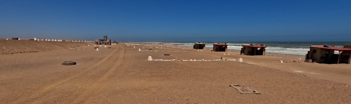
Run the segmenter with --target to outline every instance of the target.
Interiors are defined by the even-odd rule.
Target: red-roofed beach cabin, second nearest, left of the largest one
[[[261,45],[243,45],[243,48],[241,48],[240,55],[251,55],[251,56],[256,56],[256,55],[266,55],[266,46],[264,44]]]

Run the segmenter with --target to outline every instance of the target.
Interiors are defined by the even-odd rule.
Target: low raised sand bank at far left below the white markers
[[[93,45],[93,42],[0,40],[0,55],[40,52],[45,50],[74,48]]]

